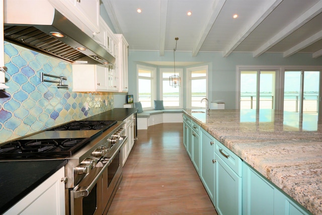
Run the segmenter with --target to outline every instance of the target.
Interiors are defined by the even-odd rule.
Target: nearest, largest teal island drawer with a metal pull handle
[[[241,159],[218,140],[215,140],[215,143],[216,156],[220,157],[238,176],[241,176]]]

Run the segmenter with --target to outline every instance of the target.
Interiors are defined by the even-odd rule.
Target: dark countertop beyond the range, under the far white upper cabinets
[[[99,113],[97,115],[88,117],[83,120],[117,120],[123,121],[132,113],[135,113],[137,108],[114,108],[112,110],[105,111],[103,113]]]

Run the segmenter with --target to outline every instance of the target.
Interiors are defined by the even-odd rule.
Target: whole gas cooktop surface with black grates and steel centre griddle
[[[0,158],[71,156],[116,123],[115,120],[68,122],[0,145]]]

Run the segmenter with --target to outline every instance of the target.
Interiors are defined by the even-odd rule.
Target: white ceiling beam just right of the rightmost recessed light
[[[239,35],[237,35],[236,38],[229,44],[229,46],[225,49],[223,52],[223,57],[228,57],[233,50],[241,43],[243,42],[262,22],[263,20],[272,13],[272,11],[282,2],[283,0],[276,0],[274,1],[266,11],[261,12],[253,17],[252,23],[249,23],[245,28],[243,28],[243,32],[241,32]]]

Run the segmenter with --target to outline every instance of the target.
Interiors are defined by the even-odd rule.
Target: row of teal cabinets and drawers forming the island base
[[[220,113],[221,116],[222,113],[225,114]],[[233,113],[230,111],[223,116],[229,118]],[[224,145],[224,135],[231,131],[217,127],[209,129],[207,122],[215,121],[207,117],[198,117],[197,114],[190,115],[184,111],[184,145],[218,214],[312,214],[244,161],[240,155],[237,156],[237,153],[228,149],[232,145]],[[218,117],[218,121],[221,119],[219,114],[213,114],[211,117]],[[221,124],[223,123],[216,123],[217,126]],[[238,123],[224,126],[226,129],[240,129]]]

